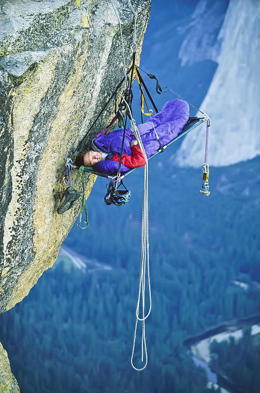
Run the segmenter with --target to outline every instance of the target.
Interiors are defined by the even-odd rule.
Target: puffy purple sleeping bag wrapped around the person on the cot
[[[154,128],[160,142],[164,146],[182,132],[188,120],[189,105],[186,101],[175,99],[166,102],[160,112],[156,113],[152,118],[149,118],[144,124],[138,125],[147,158],[151,157],[159,149],[159,142],[156,138]],[[123,154],[132,154],[130,142],[134,140],[135,137],[131,137],[130,132],[130,128],[126,129]],[[94,139],[94,143],[104,152],[120,155],[122,136],[123,130],[120,129],[110,134],[100,135],[98,138]],[[99,161],[94,165],[93,169],[99,172],[114,173],[118,171],[118,164],[117,161]],[[121,165],[121,172],[126,172],[128,170],[129,168]]]

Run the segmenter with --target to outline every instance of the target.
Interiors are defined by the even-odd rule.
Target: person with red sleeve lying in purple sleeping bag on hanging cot
[[[176,138],[189,120],[189,105],[179,99],[166,102],[162,110],[138,126],[147,159]],[[77,167],[90,165],[99,172],[117,172],[123,130],[103,134],[92,141],[92,150],[80,152],[75,160]],[[111,154],[112,153],[112,154]],[[130,129],[126,129],[122,152],[121,172],[145,165],[145,158]]]

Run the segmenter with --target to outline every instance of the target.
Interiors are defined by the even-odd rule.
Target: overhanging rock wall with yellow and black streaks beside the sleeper
[[[131,3],[138,11],[138,60],[150,0]],[[128,68],[133,14],[126,0],[114,0],[114,4],[122,22]],[[53,195],[65,189],[66,159],[88,132],[124,71],[118,19],[111,1],[0,0],[0,7],[3,312],[21,301],[54,263],[80,203],[57,214],[58,201]],[[114,105],[89,138],[107,124]],[[86,175],[86,181],[88,195],[95,176]]]

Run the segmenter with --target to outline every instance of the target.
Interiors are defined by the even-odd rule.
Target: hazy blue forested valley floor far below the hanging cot
[[[88,199],[90,226],[81,230],[75,225],[65,241],[83,261],[89,258],[86,269],[60,255],[27,298],[0,315],[0,341],[21,392],[213,391],[183,342],[222,322],[260,313],[259,167],[260,158],[212,168],[211,195],[205,197],[198,193],[201,171],[170,168],[160,157],[151,160],[152,311],[145,325],[148,365],[142,372],[130,365],[140,274],[142,169],[125,179],[132,196],[123,207],[103,203],[106,181],[98,179]],[[142,365],[140,337],[141,329],[137,366]],[[251,349],[256,345],[248,335],[244,339]],[[236,365],[239,345],[213,345],[221,367],[232,368],[227,370],[231,378],[232,373],[247,373],[248,364],[254,368],[259,359],[258,343],[256,353],[248,349]],[[258,393],[259,383],[254,380],[245,392]]]

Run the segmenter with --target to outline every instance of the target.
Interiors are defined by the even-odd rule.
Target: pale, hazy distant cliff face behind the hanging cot
[[[207,112],[212,121],[209,164],[221,167],[260,154],[257,116],[260,102],[260,3],[257,0],[230,0],[214,44],[211,37],[203,32],[203,26],[207,26],[210,33],[214,31],[210,11],[217,7],[217,1],[208,3],[213,8],[206,12],[207,1],[199,1],[194,13],[194,27],[179,56],[183,64],[199,61],[197,54],[202,59],[209,58],[218,63],[200,109]],[[201,23],[203,21],[204,24]],[[209,21],[211,28],[208,28]],[[215,21],[218,23],[218,18]],[[174,162],[181,167],[201,166],[204,146],[205,133],[194,130],[182,142]]]

